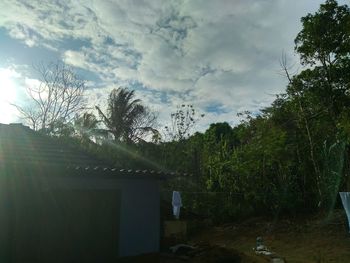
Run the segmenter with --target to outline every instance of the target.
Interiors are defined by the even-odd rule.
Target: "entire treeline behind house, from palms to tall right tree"
[[[255,116],[231,127],[214,123],[191,133],[199,116],[181,105],[165,128],[127,89],[112,91],[107,109],[55,119],[40,129],[75,141],[121,168],[190,173],[164,183],[183,192],[184,204],[215,220],[256,213],[298,213],[333,208],[348,190],[350,150],[350,11],[327,0],[301,19],[295,52],[302,70],[286,91]],[[37,121],[42,125],[43,121]]]

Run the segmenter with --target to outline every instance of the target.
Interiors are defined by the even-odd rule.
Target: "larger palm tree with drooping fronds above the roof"
[[[154,128],[156,115],[142,105],[140,99],[135,99],[134,90],[113,89],[108,97],[107,112],[98,106],[96,109],[106,131],[115,141],[132,143],[142,141],[150,134],[158,134]]]

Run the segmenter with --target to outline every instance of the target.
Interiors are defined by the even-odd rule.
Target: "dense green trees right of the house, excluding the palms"
[[[292,75],[282,56],[285,93],[259,116],[247,113],[234,128],[212,124],[165,151],[179,152],[180,167],[213,192],[216,217],[329,211],[348,190],[350,11],[328,0],[301,22],[295,51],[303,70]]]

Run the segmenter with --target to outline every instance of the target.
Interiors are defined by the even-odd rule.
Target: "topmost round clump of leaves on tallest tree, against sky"
[[[304,64],[330,65],[348,58],[350,51],[350,12],[335,0],[321,4],[315,14],[301,19],[303,29],[295,39],[295,50]]]

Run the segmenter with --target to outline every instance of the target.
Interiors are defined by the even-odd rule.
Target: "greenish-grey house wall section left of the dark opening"
[[[31,177],[22,180],[0,169],[1,262],[32,262],[38,259],[42,197]]]

